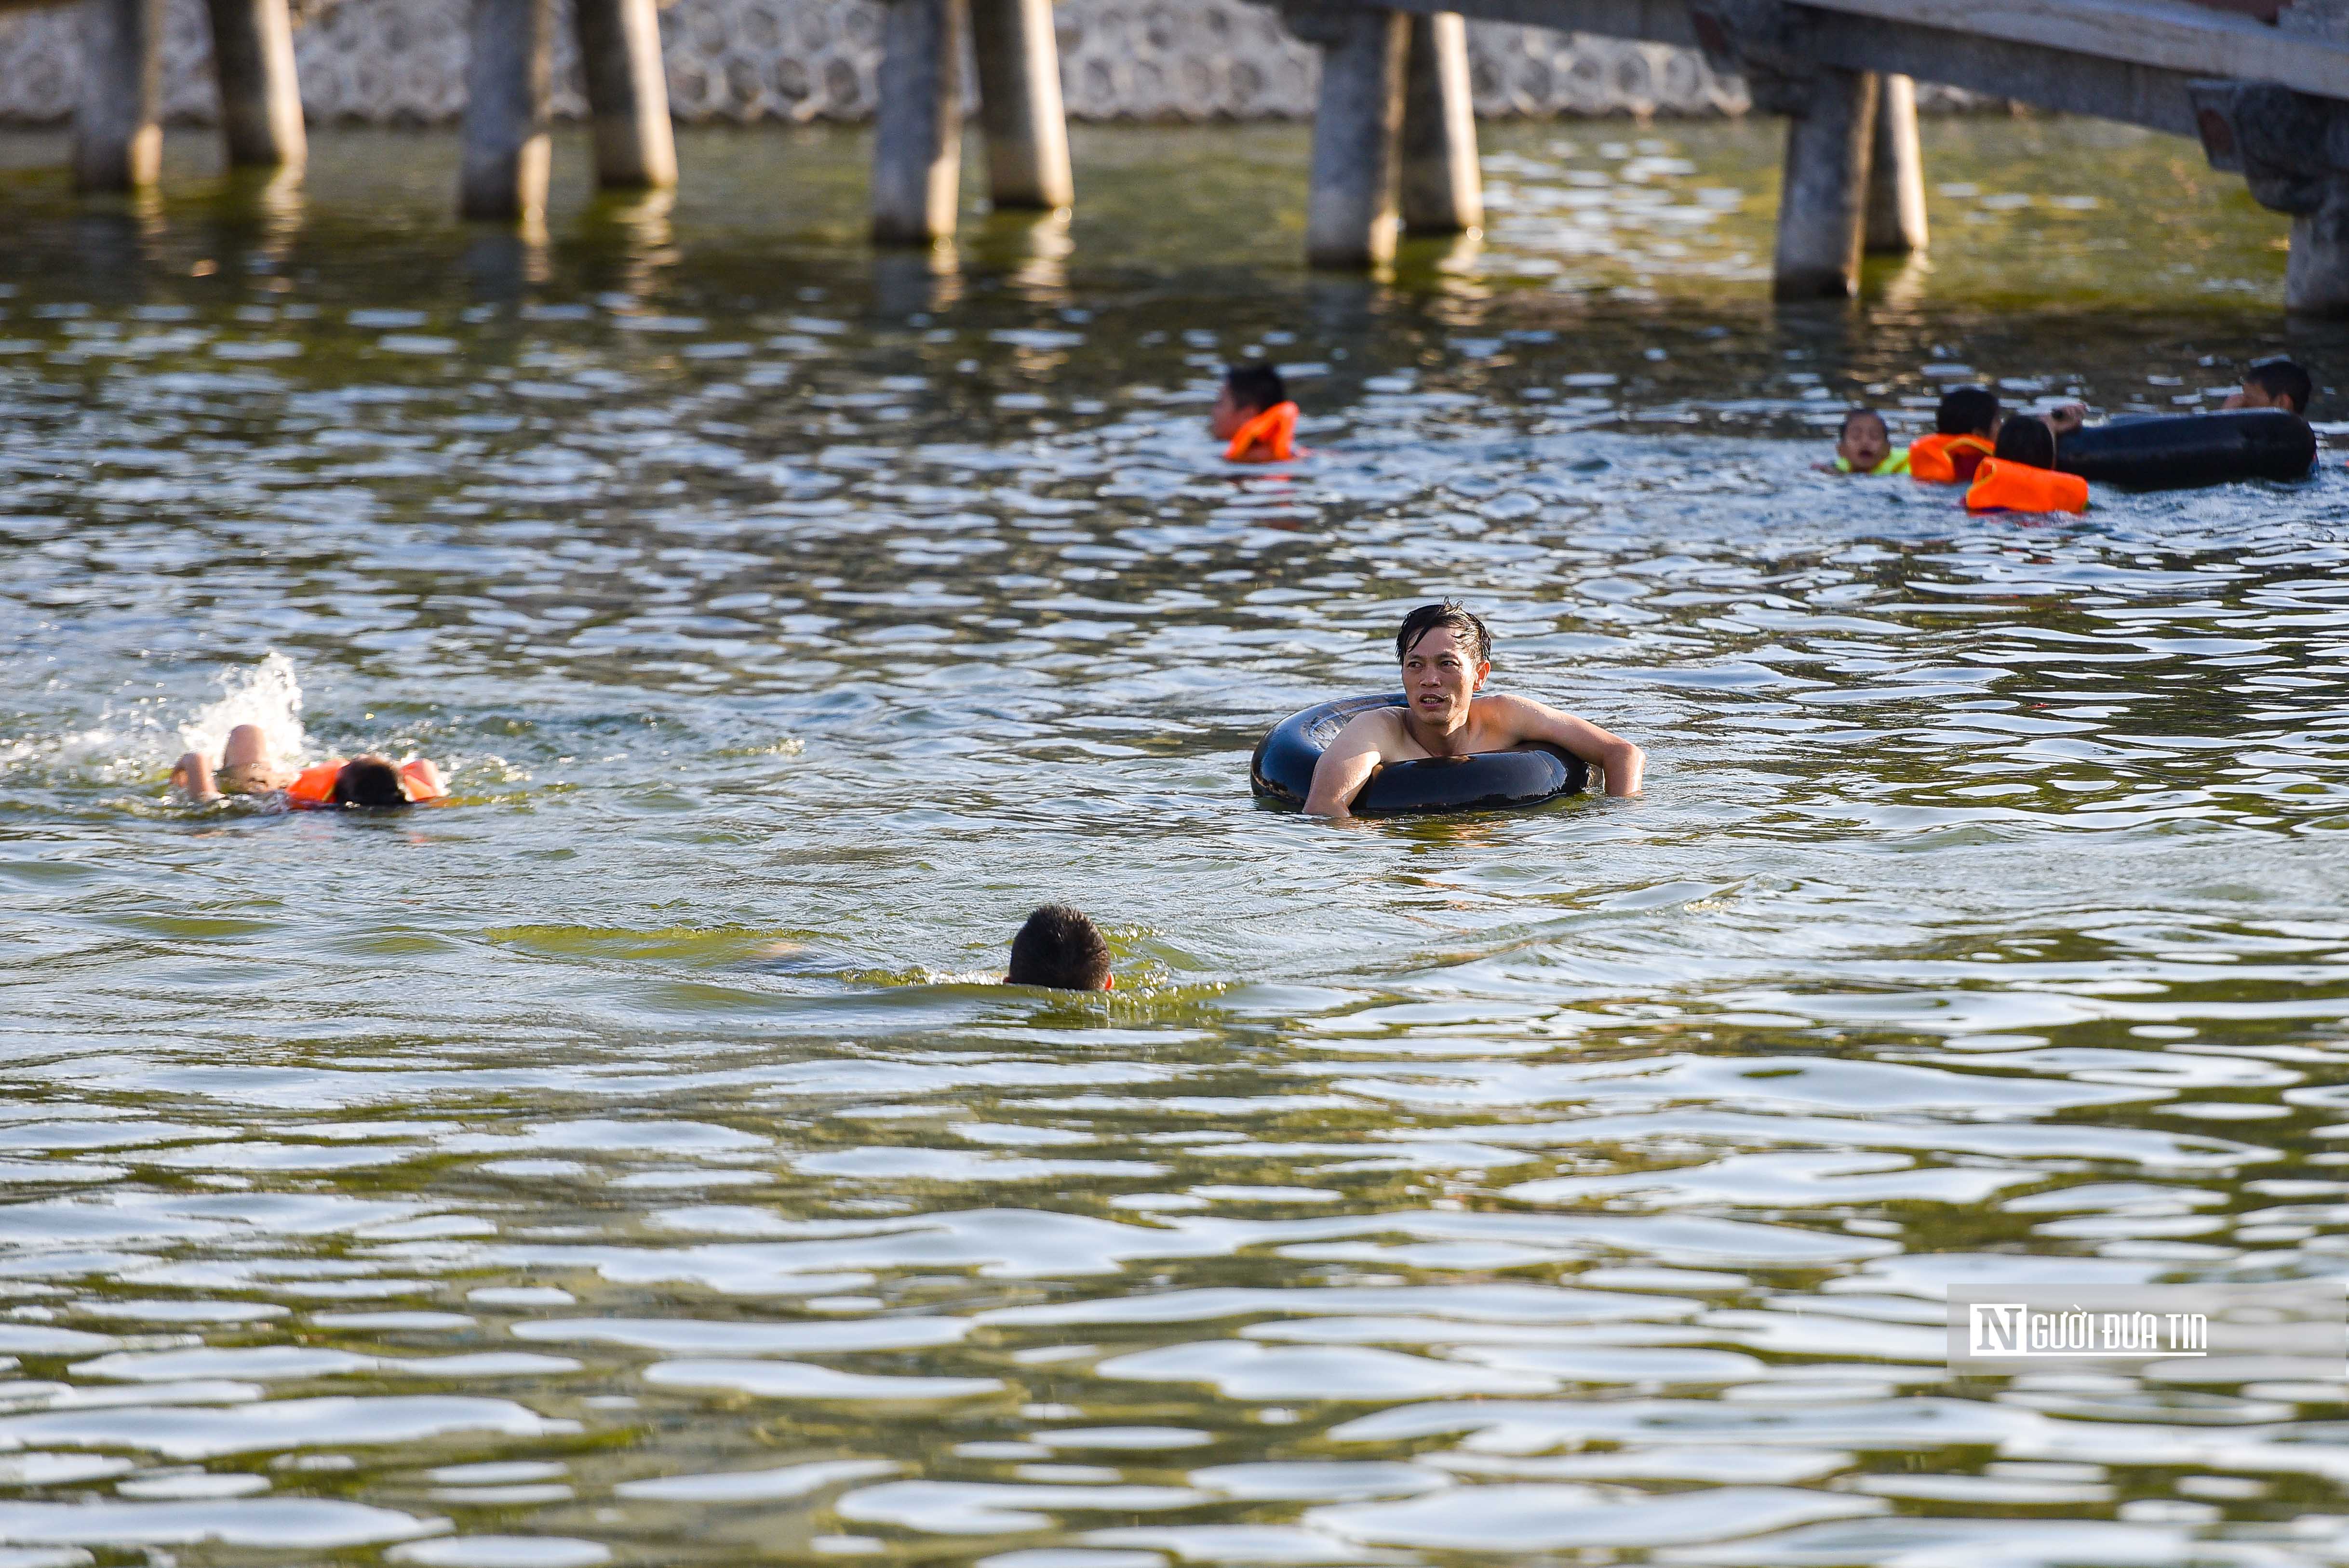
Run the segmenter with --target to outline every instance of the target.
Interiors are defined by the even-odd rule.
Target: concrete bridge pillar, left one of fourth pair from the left
[[[1402,77],[1412,19],[1372,7],[1294,7],[1290,31],[1320,45],[1306,190],[1306,265],[1377,268],[1395,258]]]

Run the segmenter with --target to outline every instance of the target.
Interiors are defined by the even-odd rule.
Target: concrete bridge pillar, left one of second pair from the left
[[[472,0],[458,216],[536,223],[547,209],[547,0]]]

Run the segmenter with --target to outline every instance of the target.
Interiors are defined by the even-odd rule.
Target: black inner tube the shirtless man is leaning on
[[[1247,784],[1261,800],[1304,805],[1313,789],[1313,765],[1355,714],[1400,709],[1402,692],[1386,697],[1339,697],[1290,714],[1257,742],[1247,763]],[[1557,746],[1527,744],[1508,751],[1473,751],[1468,756],[1428,756],[1409,763],[1381,763],[1369,784],[1353,798],[1355,817],[1402,817],[1409,812],[1482,812],[1503,805],[1539,805],[1555,796],[1579,793],[1590,782],[1590,768]]]

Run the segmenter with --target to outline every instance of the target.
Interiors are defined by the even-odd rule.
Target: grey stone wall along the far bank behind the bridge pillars
[[[557,0],[561,2],[561,0]],[[310,0],[294,35],[315,122],[418,124],[465,108],[467,0]],[[571,19],[557,26],[557,113],[583,110]],[[1313,108],[1318,56],[1245,0],[1062,0],[1059,47],[1078,120],[1283,120]],[[662,12],[679,120],[862,120],[879,63],[879,0],[674,0]],[[1722,115],[1745,87],[1687,49],[1501,23],[1468,28],[1478,113]],[[73,115],[73,7],[0,16],[0,120]],[[169,115],[216,113],[202,0],[169,0]]]

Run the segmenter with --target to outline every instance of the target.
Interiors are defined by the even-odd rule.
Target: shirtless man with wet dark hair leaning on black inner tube
[[[1346,817],[1379,763],[1508,751],[1548,742],[1607,772],[1609,796],[1637,796],[1647,751],[1529,697],[1478,697],[1492,674],[1492,634],[1456,603],[1423,603],[1395,634],[1407,707],[1372,709],[1330,742],[1313,768],[1306,812]]]

